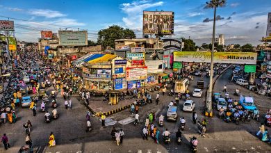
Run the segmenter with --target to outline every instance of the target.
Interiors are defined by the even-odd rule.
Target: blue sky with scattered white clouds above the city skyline
[[[191,38],[197,45],[210,43],[213,9],[207,0],[0,0],[0,19],[15,21],[18,40],[38,42],[40,31],[88,30],[97,32],[114,24],[132,29],[142,38],[143,10],[174,12],[173,38]],[[257,45],[265,36],[271,12],[270,0],[227,0],[217,8],[215,34],[225,35],[225,44]]]

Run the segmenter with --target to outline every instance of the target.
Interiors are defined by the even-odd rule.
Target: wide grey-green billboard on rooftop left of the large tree
[[[59,45],[85,46],[88,45],[88,31],[58,31]]]

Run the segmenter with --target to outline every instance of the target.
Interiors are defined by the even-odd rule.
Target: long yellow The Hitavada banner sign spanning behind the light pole
[[[252,52],[215,52],[214,63],[256,65],[257,53]],[[174,51],[175,62],[211,63],[210,51]]]

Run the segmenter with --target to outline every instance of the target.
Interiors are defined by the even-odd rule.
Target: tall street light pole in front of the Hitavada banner
[[[206,115],[213,116],[213,110],[212,110],[212,90],[213,90],[213,52],[215,49],[215,17],[216,17],[216,8],[218,6],[223,6],[225,3],[225,0],[211,0],[210,2],[206,2],[206,4],[214,8],[213,13],[213,38],[212,38],[212,51],[211,51],[211,72],[210,72],[210,83],[209,83],[209,89],[208,89],[208,95],[207,95],[207,102],[206,102]]]

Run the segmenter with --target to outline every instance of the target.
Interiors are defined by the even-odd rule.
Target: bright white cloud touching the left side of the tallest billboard
[[[142,0],[133,1],[131,3],[122,3],[120,9],[126,14],[122,17],[122,22],[129,29],[142,29],[142,13],[147,8],[163,6],[163,1]]]

